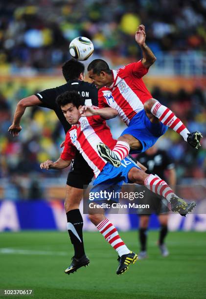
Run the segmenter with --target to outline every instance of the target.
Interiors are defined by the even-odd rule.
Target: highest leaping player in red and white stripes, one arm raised
[[[100,145],[100,155],[105,157],[106,151],[109,159],[114,158],[115,167],[120,165],[120,161],[128,155],[130,149],[143,152],[152,147],[168,127],[182,135],[195,149],[200,147],[202,137],[198,131],[190,133],[168,107],[153,99],[141,79],[156,61],[145,43],[144,25],[138,27],[135,39],[143,53],[142,60],[137,63],[111,70],[105,61],[96,59],[88,66],[89,77],[100,88],[99,107],[113,107],[128,126],[118,138],[113,151]]]

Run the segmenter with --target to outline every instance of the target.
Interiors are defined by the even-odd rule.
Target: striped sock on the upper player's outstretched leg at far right
[[[183,136],[185,141],[187,141],[187,134],[189,134],[188,129],[169,108],[161,105],[159,102],[156,102],[151,109],[151,113],[159,118],[162,124],[169,128],[172,128],[175,132]]]

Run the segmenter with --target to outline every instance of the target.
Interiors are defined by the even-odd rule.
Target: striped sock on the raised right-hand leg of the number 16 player
[[[171,197],[175,195],[174,191],[167,185],[167,183],[154,174],[148,175],[144,181],[144,185],[150,191],[166,198],[168,202],[170,202]]]

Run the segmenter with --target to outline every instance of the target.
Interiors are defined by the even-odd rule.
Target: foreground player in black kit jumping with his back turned
[[[84,64],[74,59],[67,61],[62,67],[62,72],[67,83],[55,88],[46,89],[35,95],[31,95],[22,99],[17,104],[13,123],[9,127],[8,131],[13,134],[13,136],[18,136],[19,132],[22,130],[20,121],[25,108],[31,106],[40,106],[54,110],[62,126],[64,127],[66,134],[71,126],[67,122],[62,110],[55,102],[57,96],[65,91],[75,90],[84,98],[85,105],[98,106],[98,91],[95,85],[83,81],[84,69]],[[68,174],[65,199],[68,232],[71,243],[74,247],[74,256],[72,257],[71,265],[65,270],[65,273],[67,274],[73,273],[78,268],[86,266],[90,262],[84,251],[82,234],[83,218],[79,211],[79,204],[83,197],[84,185],[89,185],[92,177],[92,169],[89,167],[79,151],[77,151],[73,165]]]

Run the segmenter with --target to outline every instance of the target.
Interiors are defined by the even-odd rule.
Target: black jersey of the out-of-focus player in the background
[[[165,179],[164,171],[174,168],[174,163],[164,150],[158,150],[154,155],[142,152],[138,155],[137,160],[162,179]]]

